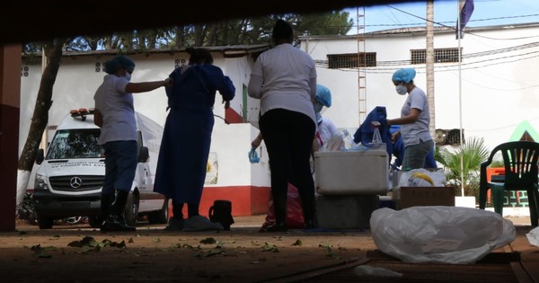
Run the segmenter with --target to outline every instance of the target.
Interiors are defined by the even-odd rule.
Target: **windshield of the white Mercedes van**
[[[57,130],[46,159],[102,158],[102,146],[97,144],[99,135],[99,128]]]

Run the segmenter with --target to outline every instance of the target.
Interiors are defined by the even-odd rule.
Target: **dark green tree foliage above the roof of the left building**
[[[349,13],[332,11],[309,14],[271,14],[258,18],[229,19],[151,30],[118,31],[102,35],[80,35],[68,41],[66,51],[116,49],[119,52],[151,49],[181,49],[190,46],[271,44],[271,31],[278,19],[294,27],[294,43],[303,35],[344,35],[353,26]],[[25,53],[39,52],[40,43],[24,45]]]

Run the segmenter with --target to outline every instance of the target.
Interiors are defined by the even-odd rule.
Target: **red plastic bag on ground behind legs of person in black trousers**
[[[305,221],[303,215],[303,208],[301,206],[301,198],[296,186],[288,183],[287,193],[287,219],[285,220],[288,229],[303,229],[305,228]],[[261,226],[261,231],[275,223],[275,208],[273,207],[273,198],[270,195],[270,202],[268,208],[268,216],[266,221]]]

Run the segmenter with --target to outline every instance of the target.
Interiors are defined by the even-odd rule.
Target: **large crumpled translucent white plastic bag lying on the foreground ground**
[[[379,208],[370,226],[381,252],[412,263],[474,263],[516,238],[511,221],[476,208]]]

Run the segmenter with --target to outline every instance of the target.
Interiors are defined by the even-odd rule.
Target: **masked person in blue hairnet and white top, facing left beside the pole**
[[[402,170],[423,168],[427,155],[434,146],[430,136],[429,102],[427,95],[413,83],[416,71],[402,68],[393,73],[392,81],[399,95],[406,95],[402,105],[401,118],[387,119],[388,126],[401,125],[401,129],[392,135],[392,142],[402,137],[405,152],[402,158]]]

